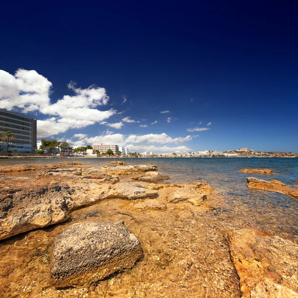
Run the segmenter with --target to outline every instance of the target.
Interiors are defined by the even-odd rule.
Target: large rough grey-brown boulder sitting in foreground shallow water
[[[52,283],[55,287],[90,284],[133,267],[142,254],[140,241],[123,222],[74,224],[54,240]]]

